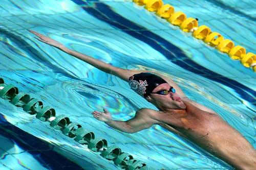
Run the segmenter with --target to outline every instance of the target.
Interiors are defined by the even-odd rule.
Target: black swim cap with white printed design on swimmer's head
[[[145,97],[145,94],[150,94],[157,86],[167,82],[150,72],[141,72],[131,76],[128,83],[131,89]]]

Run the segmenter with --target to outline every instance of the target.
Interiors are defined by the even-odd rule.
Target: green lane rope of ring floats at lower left
[[[31,98],[25,92],[19,92],[14,85],[7,85],[3,78],[0,78],[0,97],[9,100],[11,104],[22,107],[24,111],[31,115],[36,114],[36,118],[42,122],[50,122],[50,126],[60,130],[62,134],[73,138],[80,144],[85,144],[93,152],[99,152],[102,158],[113,161],[113,163],[129,170],[153,170],[144,162],[134,159],[132,155],[122,152],[116,145],[108,146],[108,141],[95,137],[94,133],[82,127],[82,125],[71,122],[70,118],[61,114],[56,116],[55,109],[38,100]]]

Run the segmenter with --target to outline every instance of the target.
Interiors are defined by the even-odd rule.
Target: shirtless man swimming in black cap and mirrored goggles
[[[189,100],[174,81],[153,71],[127,70],[112,66],[70,50],[60,42],[37,32],[30,32],[39,41],[129,82],[135,92],[159,109],[139,109],[132,119],[125,122],[113,120],[110,112],[103,109],[103,112],[92,113],[96,119],[126,133],[160,125],[188,138],[237,169],[256,169],[256,152],[252,145],[215,111]]]

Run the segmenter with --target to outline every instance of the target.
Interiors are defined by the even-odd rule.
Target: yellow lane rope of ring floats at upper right
[[[197,19],[187,18],[186,14],[181,11],[175,12],[172,5],[164,4],[162,0],[133,0],[133,2],[144,6],[150,12],[155,12],[156,15],[166,19],[172,25],[180,27],[182,31],[191,32],[195,38],[201,39],[222,53],[227,53],[233,60],[240,60],[242,65],[256,72],[255,54],[246,54],[246,49],[243,46],[235,46],[231,40],[224,39],[220,33],[211,32],[211,29],[205,25],[198,26]]]

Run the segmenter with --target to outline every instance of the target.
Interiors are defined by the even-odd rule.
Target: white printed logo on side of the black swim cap
[[[136,93],[144,97],[144,94],[146,93],[146,86],[148,86],[146,80],[145,81],[139,80],[138,82],[133,79],[134,79],[134,76],[132,76],[129,80],[129,85],[131,89],[133,89]]]

